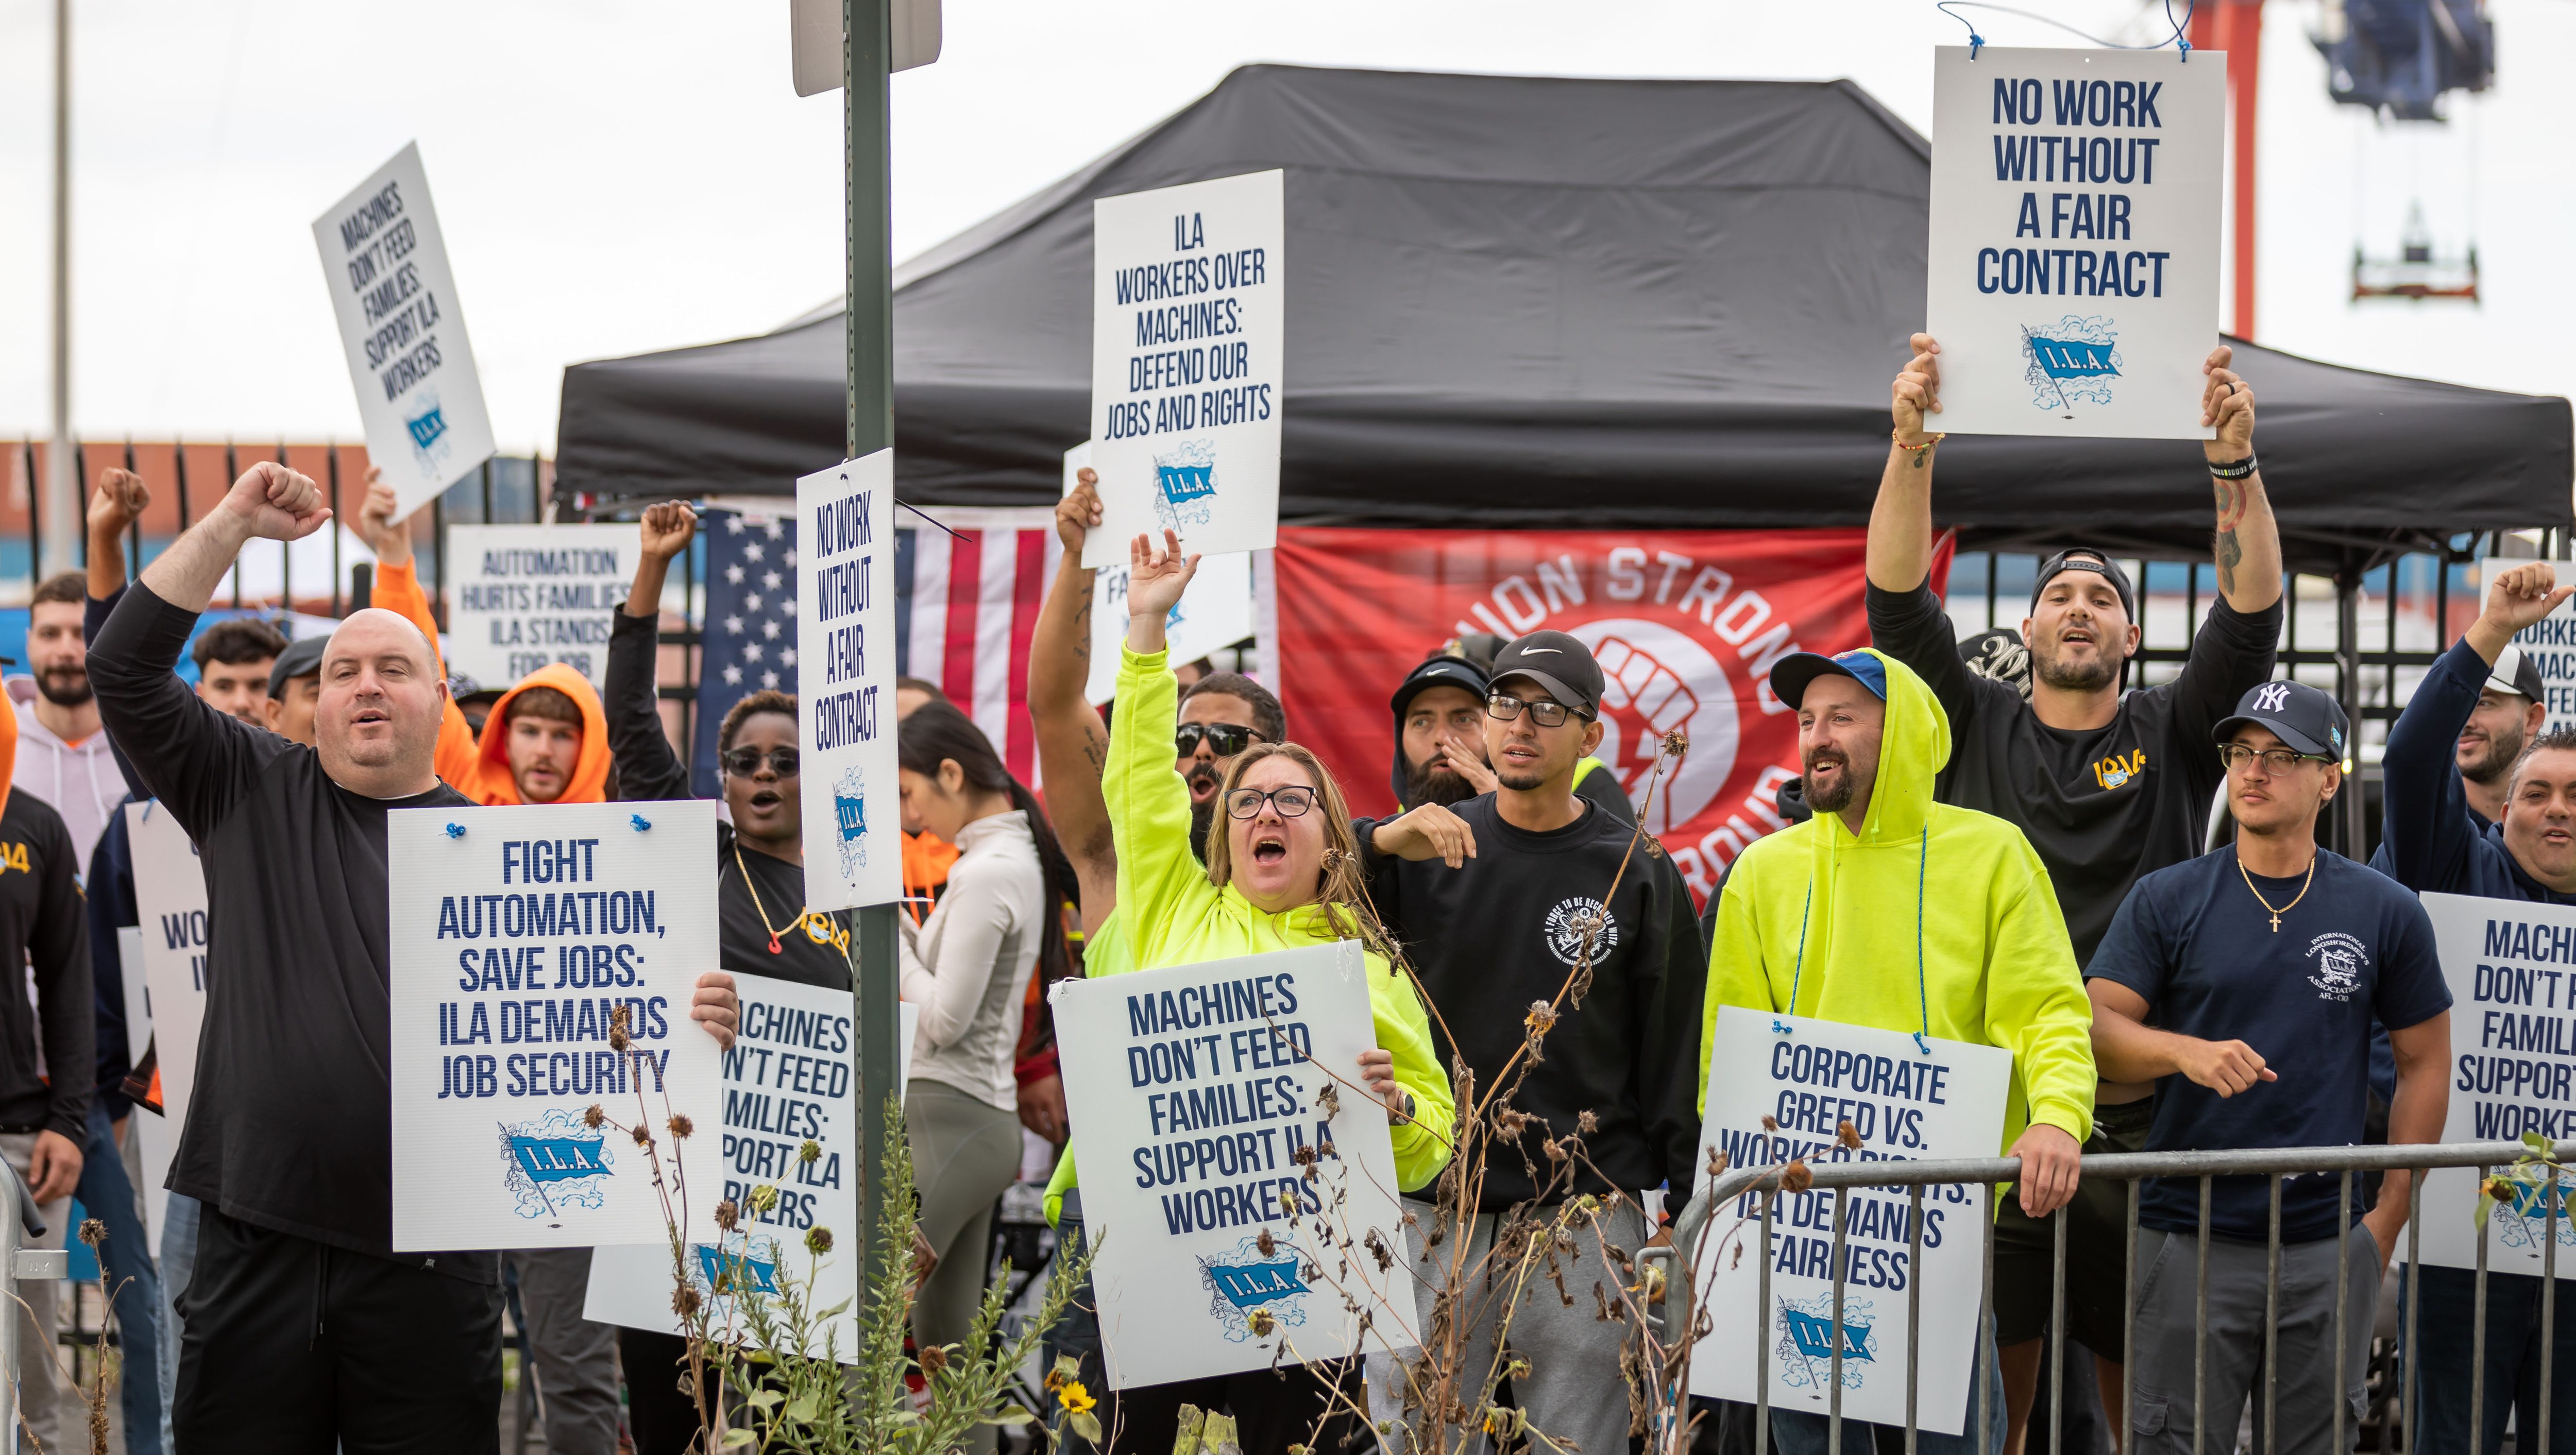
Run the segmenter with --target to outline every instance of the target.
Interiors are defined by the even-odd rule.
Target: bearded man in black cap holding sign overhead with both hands
[[[2223,780],[2210,729],[2272,677],[2280,530],[2254,466],[2254,391],[2228,368],[2231,358],[2228,348],[2210,350],[2200,394],[2202,425],[2215,430],[2200,451],[2218,510],[2210,551],[2218,600],[2182,675],[2125,695],[2123,675],[2141,636],[2138,592],[2102,551],[2058,551],[2040,564],[2022,621],[2027,700],[1960,662],[1958,631],[1929,585],[1940,343],[1914,335],[1914,361],[1891,389],[1896,435],[1870,510],[1870,644],[1919,672],[1940,698],[1953,742],[1940,801],[1994,814],[2030,837],[2066,912],[2076,966],[2092,961],[2141,876],[2200,858]],[[2138,1151],[2151,1094],[2154,1084],[2105,1082],[2089,1151]],[[2053,1246],[2050,1228],[2007,1203],[1994,1234],[1994,1331],[2014,1450],[2038,1388]],[[2066,1334],[2094,1352],[2105,1409],[2120,1409],[2125,1267],[2128,1197],[2105,1182],[2076,1195],[2066,1259]]]

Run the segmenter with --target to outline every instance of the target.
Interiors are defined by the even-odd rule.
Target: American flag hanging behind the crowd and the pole
[[[940,530],[896,515],[894,670],[938,682],[1002,762],[1036,783],[1028,639],[1064,546],[1051,510],[933,507]],[[796,520],[706,512],[706,628],[690,778],[714,796],[716,729],[744,693],[796,690]]]

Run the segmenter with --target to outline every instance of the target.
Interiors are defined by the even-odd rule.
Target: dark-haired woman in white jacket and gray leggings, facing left
[[[938,909],[917,930],[904,919],[902,948],[904,999],[922,1007],[904,1125],[922,1236],[940,1259],[912,1311],[912,1337],[927,1349],[966,1339],[984,1298],[992,1205],[1020,1172],[1012,1061],[1028,976],[1066,966],[1051,868],[1064,855],[1038,798],[966,713],[914,708],[899,752],[904,832],[958,847]]]

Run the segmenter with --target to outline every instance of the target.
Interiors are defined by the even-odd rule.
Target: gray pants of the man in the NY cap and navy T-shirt
[[[2233,1450],[2246,1401],[2262,1424],[2264,1244],[2210,1236],[2210,1306],[2195,1313],[2200,1282],[2197,1234],[2138,1228],[2138,1357],[2136,1452],[2190,1455],[2192,1450],[2192,1342],[2208,1331],[2205,1450]],[[2280,1445],[2262,1429],[2257,1450],[2277,1455],[2331,1455],[2334,1401],[2344,1401],[2344,1442],[2360,1432],[2362,1373],[2370,1326],[2380,1300],[2380,1252],[2370,1231],[2349,1234],[2344,1277],[2344,1349],[2334,1349],[2334,1239],[2280,1249]]]

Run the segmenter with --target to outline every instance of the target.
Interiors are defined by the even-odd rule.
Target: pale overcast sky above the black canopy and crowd
[[[417,139],[502,451],[551,448],[564,363],[770,330],[842,278],[840,98],[788,85],[788,0],[75,0],[75,427],[358,435],[312,219]],[[2138,0],[2022,0],[2123,41]],[[52,3],[0,0],[0,435],[49,415]],[[2576,5],[2491,0],[2496,88],[2447,129],[2336,108],[2313,0],[2272,0],[2262,343],[2568,394],[2576,167],[2553,95]],[[2081,44],[1968,10],[1994,44]],[[1929,0],[948,0],[894,80],[894,242],[917,252],[1244,62],[1852,77],[1929,131]],[[2550,57],[2558,57],[2555,62]],[[2352,306],[2411,201],[2478,245],[2486,306]],[[1891,358],[1891,373],[1901,361]]]

